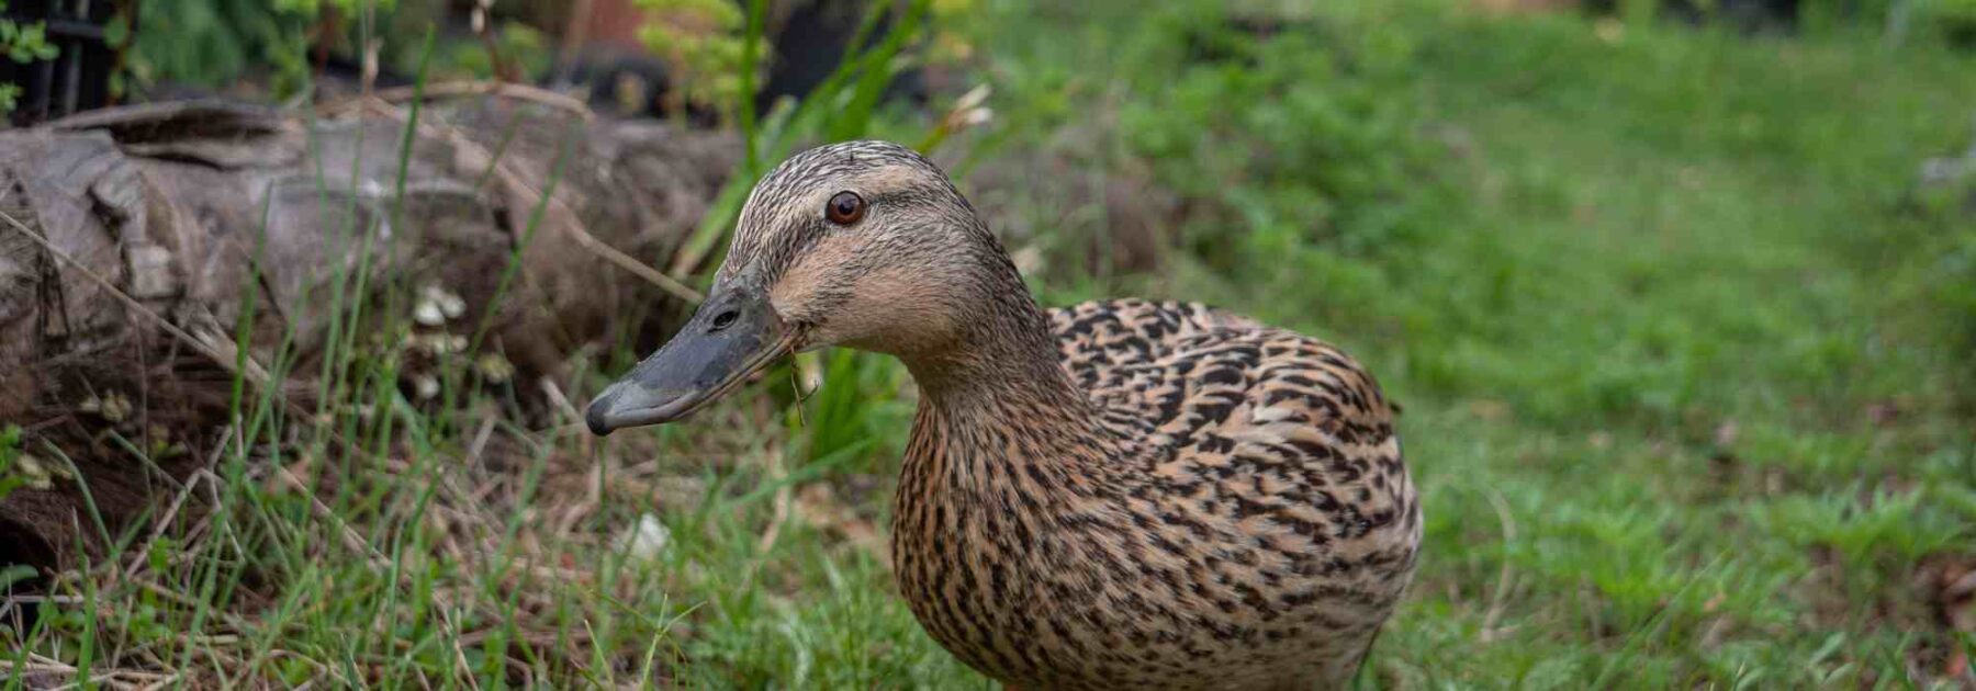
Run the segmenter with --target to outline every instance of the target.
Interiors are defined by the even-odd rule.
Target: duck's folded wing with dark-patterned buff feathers
[[[1340,569],[1365,596],[1411,571],[1421,517],[1393,411],[1350,355],[1197,304],[1087,302],[1053,320],[1166,511],[1267,535],[1298,557],[1290,573]]]

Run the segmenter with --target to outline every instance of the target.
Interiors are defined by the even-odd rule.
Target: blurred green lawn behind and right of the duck
[[[1976,559],[1970,312],[1940,300],[1976,290],[1976,221],[1913,195],[1976,136],[1976,61],[1419,8],[1308,34],[1243,69],[1031,49],[1132,55],[1107,77],[1148,87],[1089,85],[1126,146],[1235,207],[1195,270],[1061,298],[1207,296],[1407,405],[1429,545],[1377,681],[1942,683],[1972,634],[1917,582]]]

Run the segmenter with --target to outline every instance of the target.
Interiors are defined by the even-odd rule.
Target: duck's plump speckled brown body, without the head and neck
[[[899,586],[968,665],[1039,689],[1336,687],[1391,614],[1419,505],[1377,385],[1197,304],[1051,310],[1063,381],[929,389]]]

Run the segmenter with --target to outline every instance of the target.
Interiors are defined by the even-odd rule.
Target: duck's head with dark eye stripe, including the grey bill
[[[822,346],[939,353],[1010,290],[1028,300],[933,162],[891,142],[812,148],[755,186],[707,300],[585,417],[597,434],[678,421]]]

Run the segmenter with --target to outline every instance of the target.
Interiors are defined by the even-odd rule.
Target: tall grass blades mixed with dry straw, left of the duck
[[[737,67],[749,87],[763,55],[763,2],[751,2],[747,49]],[[688,243],[682,265],[690,272],[717,261],[709,255],[725,245],[739,201],[765,160],[786,156],[800,140],[869,128],[877,97],[905,65],[901,55],[927,2],[911,4],[885,36],[873,32],[879,12],[887,10],[873,8],[844,67],[812,97],[757,122],[753,99],[743,95],[749,154]],[[723,624],[755,630],[775,618],[816,614],[842,622],[850,614],[788,610],[784,598],[749,582],[822,578],[854,592],[879,569],[869,555],[824,571],[790,569],[786,561],[804,557],[777,553],[773,537],[816,531],[790,523],[794,488],[865,458],[867,444],[856,438],[810,434],[854,428],[840,424],[860,419],[850,397],[869,389],[832,387],[824,403],[812,403],[828,426],[804,426],[802,405],[790,397],[794,405],[786,411],[773,405],[719,413],[747,419],[743,428],[759,428],[757,434],[662,434],[658,446],[654,440],[599,444],[567,419],[553,428],[522,428],[498,415],[504,393],[476,379],[470,355],[441,363],[445,385],[437,401],[413,403],[401,393],[407,373],[397,347],[413,332],[407,316],[415,286],[379,284],[373,257],[395,257],[407,235],[383,239],[381,227],[405,223],[401,209],[429,57],[431,38],[405,109],[389,213],[360,213],[360,195],[318,172],[322,207],[342,195],[342,219],[350,225],[332,235],[344,243],[338,251],[356,261],[350,269],[332,263],[326,280],[330,320],[320,367],[312,371],[316,405],[298,409],[281,387],[237,375],[231,424],[209,466],[174,486],[156,513],[121,535],[91,515],[109,551],[53,575],[45,594],[10,600],[22,626],[0,628],[10,650],[8,689],[49,679],[115,687],[725,683],[735,679],[709,677],[711,669],[684,659],[733,655],[727,646],[759,650],[759,644],[709,630]],[[492,304],[470,326],[466,353],[486,346],[500,302],[518,278],[522,255],[571,156],[575,132],[569,134]],[[310,136],[310,144],[320,162],[320,140]],[[364,162],[352,166],[350,180],[358,180]],[[261,304],[251,286],[261,280],[265,233],[255,247],[233,344],[241,359],[233,365],[247,371],[251,351],[273,351],[269,375],[287,381],[300,363],[292,326],[281,344],[253,342]],[[854,361],[834,357],[830,377],[856,381]],[[36,452],[61,458],[53,446]],[[788,464],[781,460],[784,452]],[[814,537],[800,545],[816,549]],[[85,555],[79,545],[75,553]],[[846,578],[844,569],[856,576]],[[745,576],[729,580],[731,573]],[[10,580],[18,576],[24,575],[8,571]],[[674,592],[698,596],[680,600]],[[911,620],[897,614],[877,630],[856,626],[873,642],[895,640],[913,632]],[[682,638],[682,632],[692,634]],[[840,671],[814,667],[818,652],[808,644],[782,646],[788,657],[761,657],[755,671],[733,673],[842,679]],[[844,650],[836,659],[858,657],[862,652]],[[864,679],[899,673],[889,663],[854,667],[862,667],[852,673]]]

